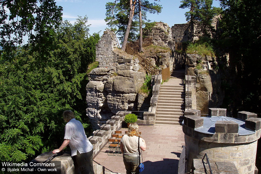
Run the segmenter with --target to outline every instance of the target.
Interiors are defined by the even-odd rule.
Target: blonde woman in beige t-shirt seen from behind
[[[131,123],[128,128],[128,134],[124,135],[121,140],[120,149],[123,154],[123,162],[126,168],[126,174],[139,174],[139,147],[142,151],[146,150],[145,140],[138,137],[139,126]]]

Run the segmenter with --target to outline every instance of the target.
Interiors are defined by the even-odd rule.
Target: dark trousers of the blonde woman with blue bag
[[[123,155],[123,162],[126,169],[126,174],[139,174],[139,159],[138,157],[131,157]]]

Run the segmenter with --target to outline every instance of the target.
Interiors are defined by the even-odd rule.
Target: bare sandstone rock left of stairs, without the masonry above
[[[103,76],[104,81],[97,81],[98,75],[94,75],[94,79],[90,76],[93,80],[86,86],[86,112],[95,128],[118,111],[137,110],[138,90],[144,83],[145,72],[120,70],[116,74],[115,77]]]

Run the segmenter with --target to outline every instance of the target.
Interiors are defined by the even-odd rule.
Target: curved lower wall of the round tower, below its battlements
[[[233,162],[240,174],[254,174],[257,141],[238,145],[205,142],[188,135],[184,139],[186,147],[190,147],[187,148],[187,164],[191,165],[193,158],[202,159],[207,153],[212,161]]]

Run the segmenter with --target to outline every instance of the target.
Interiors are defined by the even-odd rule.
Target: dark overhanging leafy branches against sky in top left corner
[[[17,44],[28,36],[31,49],[41,51],[45,58],[52,49],[54,29],[62,21],[62,7],[54,0],[1,0],[0,7],[0,55],[14,58]],[[10,12],[10,13],[9,13]]]

